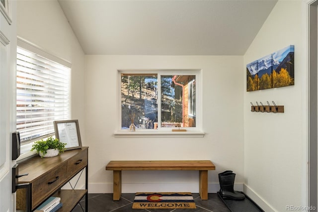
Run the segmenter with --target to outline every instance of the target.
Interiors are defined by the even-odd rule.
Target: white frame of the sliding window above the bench
[[[158,129],[136,129],[136,131],[129,131],[129,129],[121,129],[121,75],[122,74],[157,74],[158,75],[158,100],[161,99],[160,83],[161,75],[195,75],[196,80],[196,126],[182,127],[186,129],[185,132],[172,132],[171,129],[178,129],[178,127],[161,127],[158,124]],[[117,70],[117,129],[114,132],[115,137],[203,137],[202,131],[202,70],[201,69],[130,69]],[[158,123],[161,123],[161,102],[158,101]]]

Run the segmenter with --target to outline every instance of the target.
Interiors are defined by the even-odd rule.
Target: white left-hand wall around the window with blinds
[[[84,53],[57,0],[17,1],[17,35],[72,64],[72,119],[84,134]]]

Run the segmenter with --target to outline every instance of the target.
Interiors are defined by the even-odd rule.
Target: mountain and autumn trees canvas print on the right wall
[[[246,91],[258,91],[293,85],[293,45],[246,65]]]

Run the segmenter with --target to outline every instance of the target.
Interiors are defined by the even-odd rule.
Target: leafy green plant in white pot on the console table
[[[42,158],[43,157],[54,157],[64,152],[66,143],[60,142],[59,139],[53,138],[52,136],[46,140],[35,141],[32,145],[31,151],[36,151]]]

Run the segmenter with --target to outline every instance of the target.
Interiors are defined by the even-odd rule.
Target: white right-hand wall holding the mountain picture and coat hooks
[[[295,45],[295,86],[245,92],[244,80],[244,188],[265,211],[286,211],[286,206],[301,206],[302,161],[302,2],[278,1],[258,35],[244,55],[246,64]],[[246,79],[246,78],[245,78]],[[252,102],[274,101],[285,106],[284,113],[251,112]],[[305,145],[306,146],[306,145]]]

